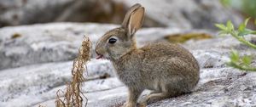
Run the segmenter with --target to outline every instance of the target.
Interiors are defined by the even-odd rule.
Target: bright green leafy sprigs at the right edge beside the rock
[[[243,23],[241,23],[238,26],[238,29],[234,27],[232,22],[229,20],[227,21],[226,25],[224,24],[216,24],[215,26],[218,27],[220,30],[219,34],[230,34],[232,37],[235,37],[238,41],[241,43],[244,43],[245,45],[249,46],[250,48],[256,49],[256,45],[248,42],[244,36],[247,36],[248,34],[256,34],[256,31],[247,29],[247,22],[250,20],[249,18],[245,20]],[[239,53],[236,50],[232,50],[230,53],[230,62],[227,63],[227,65],[230,65],[234,68],[240,69],[240,70],[252,70],[256,71],[256,67],[251,66],[252,63],[252,57],[249,55],[240,56]]]

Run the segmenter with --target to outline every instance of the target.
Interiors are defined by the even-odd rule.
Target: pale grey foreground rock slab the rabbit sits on
[[[231,37],[225,39],[231,39]],[[189,41],[189,43],[201,46],[205,42],[216,41],[218,38],[197,42]],[[239,44],[235,43],[236,45]],[[148,107],[255,106],[256,97],[253,95],[256,94],[256,73],[246,73],[224,65],[229,60],[228,49],[225,49],[224,46],[226,46],[224,43],[215,46],[218,49],[187,46],[187,48],[192,49],[191,52],[201,65],[201,80],[198,86],[193,93],[164,99],[150,104]],[[0,103],[0,106],[13,107],[17,106],[15,105],[17,103],[19,106],[38,106],[39,104],[54,106],[55,93],[59,89],[65,89],[65,82],[68,82],[71,77],[71,67],[72,62],[70,61],[1,70],[0,89],[2,91],[0,95],[4,97],[1,99],[3,102]],[[87,67],[87,78],[95,78],[84,82],[82,87],[86,98],[89,99],[88,106],[108,107],[125,102],[127,89],[117,78],[113,77],[113,67],[108,60],[93,59]],[[97,76],[102,76],[105,73],[111,77],[107,79],[97,78]],[[148,91],[143,93],[139,100],[144,99],[146,94]]]

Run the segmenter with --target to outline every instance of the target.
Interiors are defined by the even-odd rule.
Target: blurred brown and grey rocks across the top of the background
[[[135,3],[146,8],[144,26],[169,26],[183,29],[213,28],[213,24],[242,20],[219,1],[207,0],[12,0],[0,1],[0,26],[52,21],[104,22],[120,24],[125,12]],[[40,5],[39,5],[40,4]],[[157,4],[157,5],[156,5]],[[189,4],[189,5],[187,5]]]

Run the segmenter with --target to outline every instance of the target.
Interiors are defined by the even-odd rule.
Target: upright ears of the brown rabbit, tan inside
[[[125,14],[125,20],[122,26],[127,31],[128,36],[133,36],[135,32],[143,25],[144,8],[140,4],[133,5],[130,10]]]

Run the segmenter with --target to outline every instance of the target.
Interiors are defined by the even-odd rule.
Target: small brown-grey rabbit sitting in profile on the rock
[[[96,42],[96,59],[109,59],[119,80],[128,87],[125,107],[137,105],[144,89],[153,90],[144,103],[190,93],[199,81],[199,65],[189,51],[169,42],[137,48],[135,33],[142,27],[144,8],[133,5],[119,28],[108,31]]]

